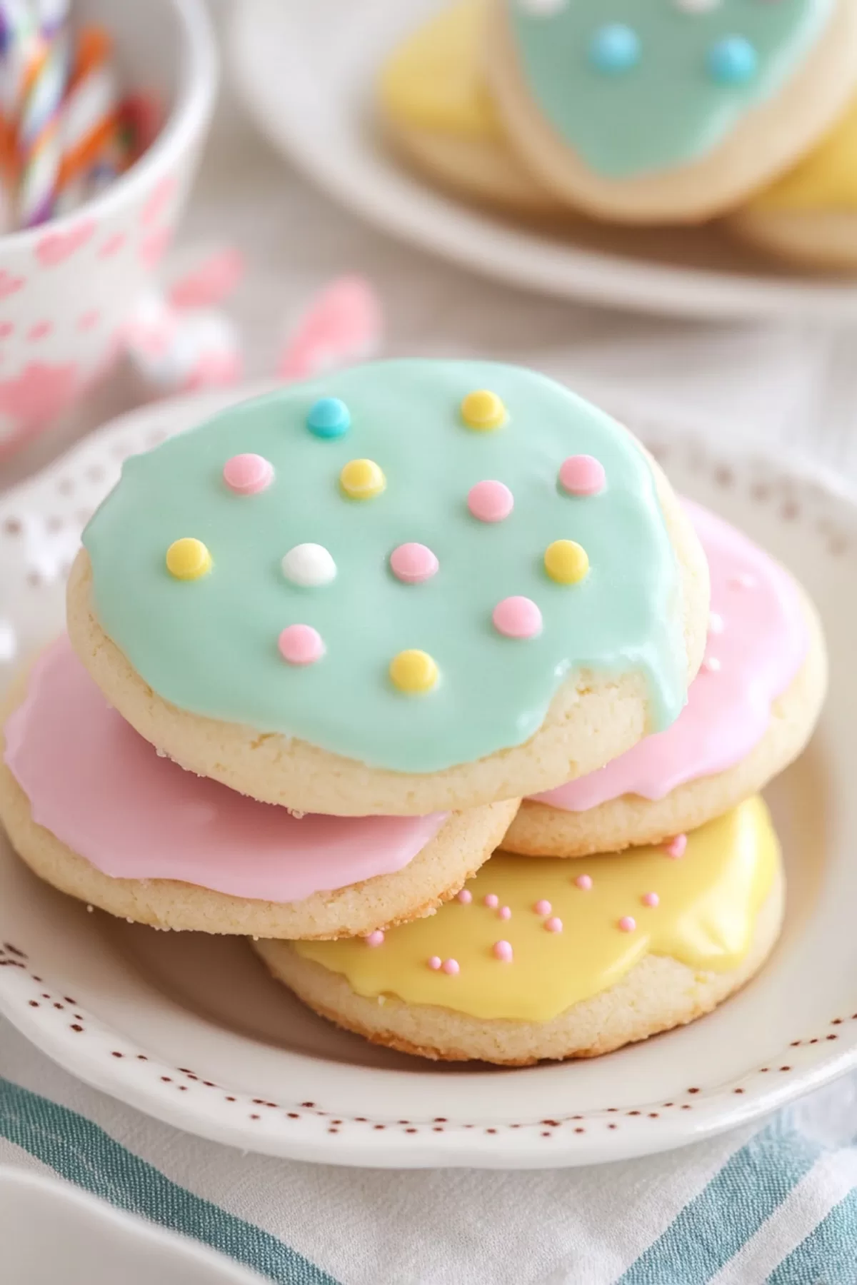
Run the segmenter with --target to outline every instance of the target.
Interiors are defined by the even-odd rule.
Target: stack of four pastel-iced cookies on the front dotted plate
[[[802,591],[608,415],[378,362],[126,463],[10,695],[0,816],[48,883],[252,938],[370,1040],[592,1055],[761,966],[757,792],[824,686]]]

